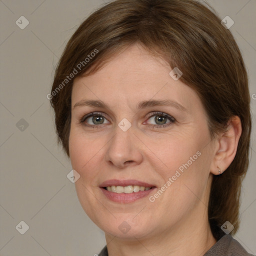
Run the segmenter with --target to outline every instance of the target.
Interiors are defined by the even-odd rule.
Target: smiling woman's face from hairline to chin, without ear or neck
[[[76,192],[92,221],[120,238],[187,231],[207,215],[216,143],[199,97],[170,71],[134,44],[73,83]]]

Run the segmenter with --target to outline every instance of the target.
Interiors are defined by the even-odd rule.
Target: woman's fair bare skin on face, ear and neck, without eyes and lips
[[[133,44],[73,83],[69,153],[80,174],[75,188],[84,211],[105,232],[109,256],[198,256],[216,242],[207,216],[210,184],[218,174],[216,166],[223,172],[234,158],[240,120],[234,117],[224,135],[211,139],[198,95],[180,79],[175,81],[170,70],[164,60]],[[108,108],[74,107],[83,99],[102,100]],[[186,110],[136,108],[149,99],[171,99]],[[95,111],[105,113],[102,124],[93,123],[92,117],[79,121]],[[154,111],[175,121],[166,119],[168,126],[152,127],[159,125],[155,115],[149,118]],[[127,131],[118,126],[123,118],[131,123]],[[113,202],[99,188],[108,179],[138,179],[159,189],[197,151],[200,156],[154,202],[148,196],[132,203]],[[126,233],[118,228],[123,221],[130,226]]]

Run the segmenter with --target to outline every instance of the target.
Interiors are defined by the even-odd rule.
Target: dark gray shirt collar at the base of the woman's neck
[[[106,246],[98,256],[108,256]],[[231,235],[222,236],[203,256],[253,256],[246,252],[241,244]]]

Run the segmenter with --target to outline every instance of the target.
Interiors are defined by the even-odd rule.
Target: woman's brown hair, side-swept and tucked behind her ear
[[[233,234],[239,226],[240,188],[248,167],[251,131],[247,73],[231,32],[220,21],[195,0],[108,3],[82,22],[69,39],[50,94],[58,139],[69,156],[73,79],[89,67],[95,72],[110,53],[139,42],[165,58],[171,68],[182,71],[181,81],[197,92],[207,112],[212,138],[225,130],[230,117],[239,116],[242,133],[235,158],[221,175],[213,176],[211,185],[208,217],[216,239],[223,234],[219,227],[226,220],[233,224]]]

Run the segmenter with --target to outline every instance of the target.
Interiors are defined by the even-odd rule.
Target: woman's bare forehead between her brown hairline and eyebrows
[[[169,98],[189,108],[197,94],[180,80],[174,80],[171,67],[138,44],[111,57],[96,72],[75,78],[72,106],[82,99],[100,99],[116,106],[141,100]]]

